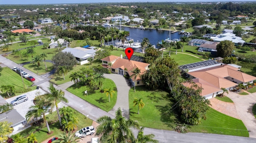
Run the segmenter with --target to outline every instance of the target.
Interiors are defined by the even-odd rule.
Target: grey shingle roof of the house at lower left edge
[[[15,109],[0,114],[0,121],[7,121],[8,123],[12,123],[10,127],[21,123],[24,120],[25,118],[23,118]]]

